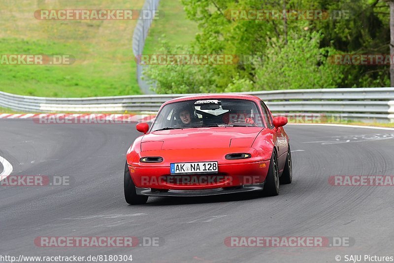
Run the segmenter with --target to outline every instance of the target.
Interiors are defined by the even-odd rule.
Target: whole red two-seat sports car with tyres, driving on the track
[[[165,102],[127,152],[125,198],[210,196],[260,191],[276,196],[292,182],[286,117],[255,96],[206,94]]]

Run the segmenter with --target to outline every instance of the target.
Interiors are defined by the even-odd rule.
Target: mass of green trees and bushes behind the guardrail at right
[[[394,0],[390,1],[392,4]],[[166,47],[167,52],[250,55],[264,59],[232,65],[149,66],[146,75],[158,82],[158,93],[376,87],[390,85],[390,75],[394,75],[394,68],[388,65],[328,63],[330,54],[393,53],[390,8],[384,0],[182,0],[182,3],[188,18],[197,21],[200,33],[190,46]],[[242,20],[228,15],[229,10],[264,9],[352,13],[350,17],[323,20]],[[293,64],[289,63],[295,58]]]

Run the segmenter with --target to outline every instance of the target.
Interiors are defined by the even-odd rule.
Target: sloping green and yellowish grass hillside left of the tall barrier
[[[72,55],[62,66],[0,65],[0,90],[42,97],[140,94],[135,20],[44,21],[37,9],[140,9],[144,0],[0,0],[0,54]]]

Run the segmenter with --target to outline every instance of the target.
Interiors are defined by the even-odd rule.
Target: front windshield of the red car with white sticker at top
[[[151,131],[203,127],[263,127],[256,103],[246,99],[194,99],[166,104]]]

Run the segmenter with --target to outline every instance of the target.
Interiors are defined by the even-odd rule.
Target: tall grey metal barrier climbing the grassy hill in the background
[[[157,9],[158,6],[159,6],[159,0],[146,0],[142,9],[143,10],[151,10],[151,12],[154,14],[154,12],[156,10],[158,10]],[[153,15],[152,15],[152,17],[153,17]],[[134,54],[134,57],[142,55],[142,51],[145,46],[145,39],[146,39],[146,36],[148,35],[148,31],[149,31],[149,28],[151,27],[152,22],[153,22],[153,19],[139,19],[138,20],[137,25],[134,29],[133,36],[132,36],[132,52]],[[139,63],[137,63],[138,85],[144,94],[154,94],[154,92],[149,89],[150,85],[142,79],[143,67],[144,67],[143,65],[140,65]]]

